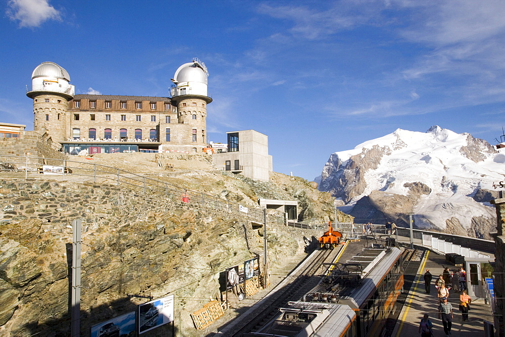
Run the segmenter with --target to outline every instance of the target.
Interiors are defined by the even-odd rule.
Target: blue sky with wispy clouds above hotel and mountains
[[[208,133],[269,136],[274,171],[312,180],[331,153],[439,125],[492,144],[505,115],[505,1],[0,1],[0,120],[33,129],[44,61],[76,93],[167,96],[209,69]]]

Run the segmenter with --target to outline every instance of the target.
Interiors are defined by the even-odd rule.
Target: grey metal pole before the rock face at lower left
[[[72,221],[72,324],[71,336],[80,335],[81,314],[81,219]]]

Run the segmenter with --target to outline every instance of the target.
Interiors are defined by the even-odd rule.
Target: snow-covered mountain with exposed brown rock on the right
[[[331,154],[319,189],[341,199],[356,222],[406,223],[413,212],[418,228],[489,238],[496,227],[492,185],[504,177],[505,154],[433,126],[426,133],[397,129]]]

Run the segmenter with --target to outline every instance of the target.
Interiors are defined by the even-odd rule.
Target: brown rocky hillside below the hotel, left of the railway
[[[132,171],[197,187],[221,200],[254,207],[260,197],[297,198],[300,211],[311,217],[326,221],[333,215],[333,198],[314,183],[280,174],[270,182],[228,176],[197,157],[170,158],[176,169],[167,173],[156,167],[154,155],[114,156]],[[94,158],[100,163],[102,157]],[[111,157],[104,160],[113,164]],[[150,298],[174,294],[178,335],[200,335],[189,314],[220,297],[225,268],[262,252],[261,229],[226,207],[195,206],[178,195],[144,194],[77,176],[65,182],[45,178],[0,180],[0,335],[68,334],[74,219],[82,219],[83,227],[83,333]],[[290,258],[303,235],[286,232],[274,216],[268,228],[272,268],[296,264]],[[157,329],[154,335],[164,333]]]

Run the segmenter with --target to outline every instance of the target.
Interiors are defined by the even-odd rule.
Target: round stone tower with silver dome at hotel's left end
[[[47,133],[53,141],[67,140],[70,115],[68,102],[74,97],[68,72],[53,62],[42,62],[32,73],[31,90],[26,95],[33,99],[33,130]]]

